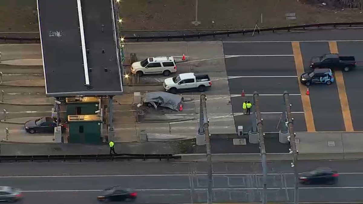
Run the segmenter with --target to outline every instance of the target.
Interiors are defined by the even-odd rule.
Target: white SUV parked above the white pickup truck
[[[174,57],[149,57],[140,62],[134,62],[131,65],[131,73],[139,77],[144,74],[164,74],[169,76],[170,73],[176,72]]]

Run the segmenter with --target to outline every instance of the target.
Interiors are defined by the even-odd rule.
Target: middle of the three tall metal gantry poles
[[[263,171],[263,189],[262,189],[262,203],[267,204],[267,160],[266,160],[266,148],[265,148],[265,134],[262,130],[262,117],[260,111],[260,100],[258,93],[253,93],[254,106],[256,110],[258,134],[260,135],[260,150],[262,157],[262,171]]]

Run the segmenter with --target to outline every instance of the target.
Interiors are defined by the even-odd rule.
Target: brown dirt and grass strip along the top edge
[[[363,21],[363,13],[349,5],[326,0],[123,0],[119,13],[124,30],[244,29],[311,23]],[[347,7],[348,8],[343,8]],[[296,20],[286,20],[295,13]],[[261,22],[262,14],[262,22]],[[36,0],[0,1],[0,32],[38,31]]]

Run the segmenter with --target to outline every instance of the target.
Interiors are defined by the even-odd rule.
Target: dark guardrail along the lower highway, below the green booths
[[[79,161],[82,160],[131,160],[131,159],[181,159],[181,156],[174,156],[172,154],[87,154],[87,155],[10,155],[10,156],[0,156],[1,162],[18,162],[18,161]]]

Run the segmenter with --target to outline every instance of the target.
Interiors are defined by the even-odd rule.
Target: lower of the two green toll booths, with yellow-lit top
[[[99,115],[68,115],[68,143],[101,144]]]

